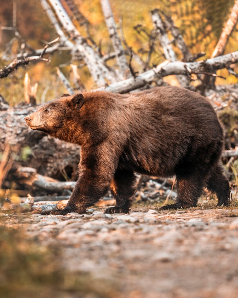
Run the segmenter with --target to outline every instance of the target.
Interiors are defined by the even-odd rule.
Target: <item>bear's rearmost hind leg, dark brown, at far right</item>
[[[224,168],[220,163],[211,170],[211,175],[207,181],[206,187],[217,195],[217,206],[228,206],[231,203],[229,182],[224,173]]]

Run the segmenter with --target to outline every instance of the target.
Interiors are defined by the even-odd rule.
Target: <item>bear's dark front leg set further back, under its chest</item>
[[[114,207],[107,208],[105,213],[127,213],[132,204],[131,197],[136,190],[136,175],[133,172],[116,170],[110,184],[111,193],[116,200]]]

